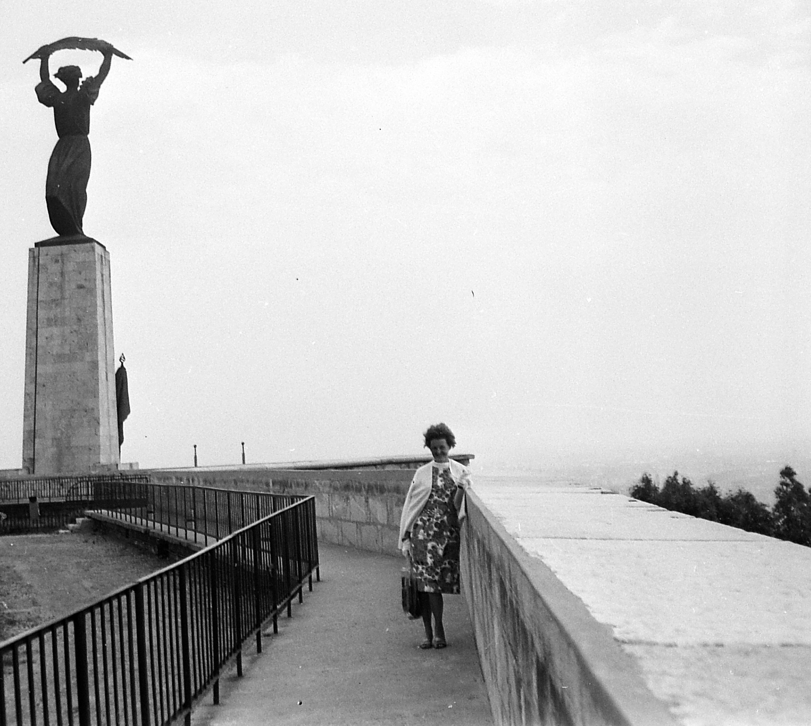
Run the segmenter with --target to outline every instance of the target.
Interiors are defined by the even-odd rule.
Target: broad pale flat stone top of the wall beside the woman
[[[587,486],[474,488],[682,723],[811,724],[811,548]]]

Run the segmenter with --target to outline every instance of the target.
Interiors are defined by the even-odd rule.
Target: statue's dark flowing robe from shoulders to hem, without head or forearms
[[[48,162],[45,202],[51,226],[58,235],[81,235],[90,178],[90,106],[98,84],[88,78],[79,89],[62,93],[50,81],[36,85],[36,97],[53,106],[59,140]]]

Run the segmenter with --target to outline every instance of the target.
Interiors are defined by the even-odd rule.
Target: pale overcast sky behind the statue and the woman
[[[4,2],[0,468],[45,42],[111,41],[84,228],[142,467],[811,440],[805,2]],[[101,55],[63,53],[93,73]]]

